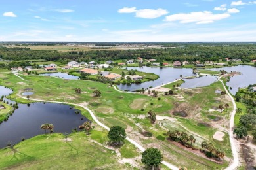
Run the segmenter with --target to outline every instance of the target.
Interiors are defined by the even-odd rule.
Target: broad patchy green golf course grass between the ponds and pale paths
[[[164,96],[160,94],[161,100],[158,100],[158,97],[149,97],[135,93],[120,93],[114,90],[114,88],[109,87],[108,84],[102,84],[88,80],[63,80],[61,78],[45,77],[39,75],[20,75],[26,80],[24,81],[17,76],[14,76],[13,74],[5,74],[5,76],[7,76],[7,79],[0,79],[0,84],[10,87],[14,90],[14,93],[12,93],[9,98],[15,101],[22,103],[32,102],[31,100],[17,97],[17,94],[23,92],[22,89],[33,88],[32,92],[35,93],[30,96],[31,99],[45,99],[47,101],[82,104],[89,107],[89,109],[91,109],[96,114],[100,122],[106,123],[108,127],[120,124],[121,122],[121,124],[125,124],[125,126],[129,127],[129,129],[132,128],[133,131],[149,131],[153,134],[152,137],[149,137],[148,139],[139,139],[137,137],[136,139],[141,140],[140,142],[146,148],[156,144],[156,146],[158,146],[160,150],[164,152],[165,160],[177,165],[178,167],[182,165],[188,167],[189,169],[194,167],[197,167],[197,169],[221,169],[227,166],[226,161],[223,165],[219,165],[213,163],[212,161],[205,160],[200,156],[196,156],[191,152],[184,151],[177,146],[173,146],[167,140],[162,141],[163,137],[166,137],[163,135],[163,133],[167,132],[166,129],[163,129],[158,124],[152,125],[148,118],[137,118],[137,116],[147,114],[149,110],[154,110],[156,114],[160,116],[172,116],[170,112],[173,109],[175,102],[181,103],[181,101],[177,101],[172,95]],[[81,88],[82,93],[75,93],[75,88]],[[95,90],[95,88],[100,90],[102,97],[93,97],[93,90]],[[221,100],[221,95],[215,93],[215,90],[223,90],[220,82],[215,82],[206,88],[194,89],[192,90],[193,93],[191,96],[182,90],[175,90],[174,93],[181,93],[181,95],[184,96],[184,101],[189,103],[190,106],[198,105],[201,108],[201,110],[198,110],[198,114],[200,114],[203,118],[203,122],[210,122],[211,120],[207,118],[207,110],[210,109],[213,105],[219,105],[219,103],[215,103],[216,98]],[[143,112],[140,110],[140,107],[131,108],[131,104],[138,99],[144,100],[145,110]],[[154,104],[150,105],[150,103]],[[230,104],[229,110],[231,110],[231,106],[232,104]],[[98,107],[112,108],[114,112],[111,114],[102,113],[100,110],[97,110]],[[88,113],[85,112],[85,114]],[[219,112],[211,112],[210,114],[228,117],[226,112],[223,112],[222,114]],[[198,121],[196,117],[194,118],[194,115],[192,115],[190,118],[177,118],[177,121],[190,131],[194,131],[194,133],[202,135],[205,140],[211,141],[216,147],[221,146],[221,148],[225,149],[226,155],[231,157],[230,144],[227,134],[225,135],[223,142],[215,141],[212,136],[217,130],[212,127],[197,126]],[[139,124],[141,127],[139,127],[137,124]],[[169,124],[167,127],[167,129],[173,128],[175,127],[173,127],[172,124]],[[182,127],[179,128],[182,129]],[[102,134],[98,135],[92,133],[91,138],[93,140],[99,141],[100,143],[108,141],[106,140],[106,134],[104,137],[102,137]],[[121,149],[127,150],[127,152],[129,152],[131,147],[125,146]],[[125,158],[129,158],[131,155],[133,155],[130,155],[130,153],[126,155],[124,151],[121,151],[121,153]],[[133,156],[135,156],[135,154]]]

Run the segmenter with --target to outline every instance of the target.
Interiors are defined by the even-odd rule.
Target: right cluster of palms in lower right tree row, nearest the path
[[[201,143],[201,147],[204,149],[205,154],[207,150],[211,154],[211,156],[215,155],[217,156],[217,158],[219,158],[219,160],[221,160],[221,158],[224,158],[225,156],[224,150],[215,148],[212,143],[207,143],[206,141],[203,141]]]

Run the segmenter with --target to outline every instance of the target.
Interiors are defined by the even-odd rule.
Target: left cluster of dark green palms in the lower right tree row
[[[184,146],[188,146],[188,143],[190,143],[192,147],[192,144],[196,143],[196,138],[193,135],[188,135],[188,133],[184,131],[168,131],[167,135],[171,140],[181,142]]]

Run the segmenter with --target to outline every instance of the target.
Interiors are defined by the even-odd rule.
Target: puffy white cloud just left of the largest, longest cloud
[[[137,10],[135,17],[154,19],[166,15],[169,12],[165,9],[140,9]]]

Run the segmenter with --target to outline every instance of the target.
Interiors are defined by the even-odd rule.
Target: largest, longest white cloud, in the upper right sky
[[[196,24],[207,24],[217,20],[230,17],[230,14],[213,14],[210,11],[173,14],[165,17],[167,22],[179,21],[181,23],[196,22]]]

